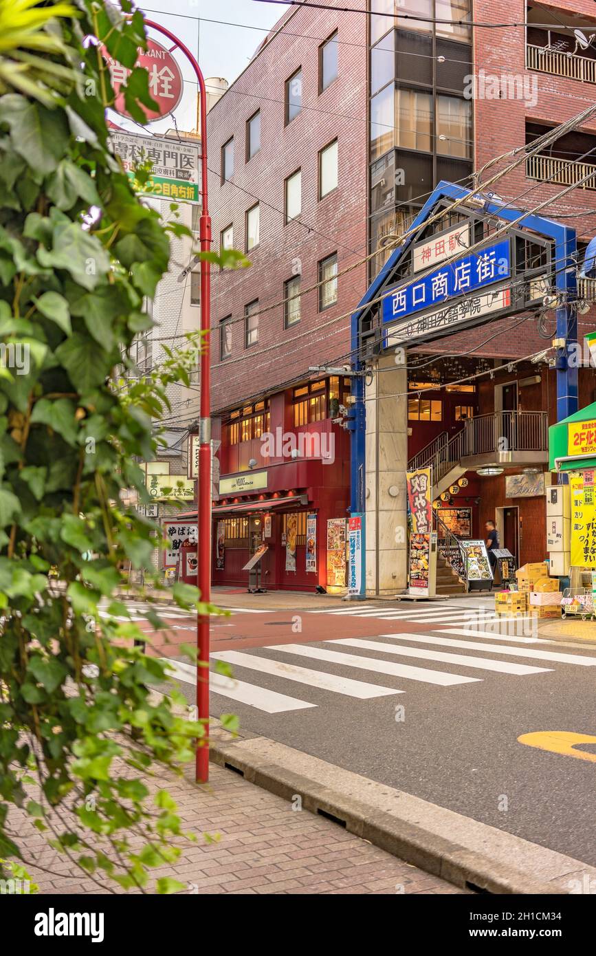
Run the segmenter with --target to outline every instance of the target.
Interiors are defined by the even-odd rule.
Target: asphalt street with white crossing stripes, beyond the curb
[[[539,640],[530,622],[455,602],[366,608],[216,621],[212,654],[234,681],[213,676],[211,713],[596,865],[596,736],[576,747],[592,759],[518,739],[596,735],[596,644]],[[176,641],[191,640],[192,620],[177,620]],[[176,644],[155,653],[184,661]],[[193,700],[183,663],[179,679]]]

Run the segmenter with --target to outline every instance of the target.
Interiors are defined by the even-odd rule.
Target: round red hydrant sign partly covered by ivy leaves
[[[102,54],[110,68],[112,87],[116,94],[114,109],[120,116],[130,117],[130,113],[124,105],[124,91],[122,87],[126,86],[131,70],[118,63],[113,56],[102,50]],[[146,122],[155,122],[162,120],[176,109],[182,98],[183,81],[181,69],[172,56],[172,54],[162,47],[155,40],[147,41],[147,50],[138,52],[138,60],[135,66],[140,66],[149,74],[149,94],[152,99],[158,103],[160,109],[148,110],[146,106],[140,103],[140,108],[146,115]]]

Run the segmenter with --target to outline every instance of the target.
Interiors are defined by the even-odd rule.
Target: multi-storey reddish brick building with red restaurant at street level
[[[347,435],[332,419],[349,401],[350,377],[341,374],[353,358],[349,314],[391,251],[382,248],[383,240],[408,228],[439,181],[470,186],[473,170],[535,141],[592,100],[591,0],[540,6],[478,0],[473,11],[469,0],[351,2],[357,10],[367,6],[370,16],[287,11],[208,114],[214,245],[244,250],[252,263],[213,278],[212,404],[223,479],[214,502],[215,583],[244,584],[245,559],[265,542],[268,586],[330,584],[327,522],[343,519],[350,503]],[[485,30],[457,22],[466,17],[526,26]],[[585,44],[573,33],[580,28]],[[492,77],[500,84],[497,97],[487,93],[494,89]],[[532,208],[585,176],[592,148],[596,156],[595,117],[523,160],[492,188],[512,206]],[[480,182],[508,162],[491,167]],[[594,180],[543,213],[575,228],[580,246],[595,221],[592,162]],[[457,215],[446,216],[431,233],[458,221]],[[528,246],[523,254],[528,268],[540,265],[540,248]],[[593,297],[588,287],[584,280],[581,293]],[[515,422],[522,422],[518,415],[535,413],[523,419],[532,422],[523,425],[532,429],[522,449],[527,461],[512,459],[494,476],[464,472],[466,493],[449,500],[447,489],[440,505],[450,512],[469,510],[467,536],[482,536],[485,520],[496,518],[503,543],[519,563],[545,556],[544,498],[506,498],[505,479],[522,465],[545,470],[546,426],[556,420],[550,364],[511,365],[550,346],[554,314],[541,320],[549,340],[540,335],[539,314],[533,309],[519,322],[503,315],[413,346],[405,385],[411,394],[394,409],[407,447],[388,466],[388,473],[401,476],[397,499],[403,509],[405,467],[424,460],[425,446],[430,459],[445,436],[449,441],[469,428],[471,417],[480,428],[503,412]],[[581,338],[593,327],[592,313],[579,321]],[[309,372],[312,366],[330,371],[317,375]],[[488,370],[490,378],[480,376],[467,388],[453,384]],[[383,388],[389,394],[380,381],[390,376],[375,375],[374,362],[370,371],[377,397]],[[430,389],[434,383],[436,391]],[[591,369],[580,370],[579,391],[580,405],[593,400]],[[367,403],[369,417],[371,408]],[[279,447],[267,450],[264,433],[278,429],[295,439],[307,433],[310,441],[313,435],[333,436],[334,463],[324,467],[316,441],[302,455],[288,442],[290,460]],[[521,434],[518,428],[518,444]],[[377,508],[374,452],[367,472],[376,483],[368,487],[367,508]],[[317,515],[311,572],[309,514]],[[378,531],[378,516],[376,523]],[[389,594],[405,585],[405,565],[394,549],[392,522],[381,531],[383,541],[367,527],[375,554],[368,588]]]

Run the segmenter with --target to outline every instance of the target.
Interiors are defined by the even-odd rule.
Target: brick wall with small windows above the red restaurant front
[[[352,6],[364,5],[354,0]],[[341,6],[341,5],[340,5]],[[319,93],[319,46],[338,30],[338,76]],[[275,35],[281,31],[280,35]],[[288,35],[284,35],[284,31]],[[307,34],[289,35],[289,34]],[[312,37],[312,38],[310,38]],[[347,357],[350,318],[344,316],[366,290],[366,266],[338,280],[337,303],[318,311],[316,290],[302,296],[301,320],[285,329],[284,307],[260,315],[259,340],[245,349],[245,304],[259,308],[284,298],[293,263],[301,264],[302,289],[318,281],[318,262],[336,252],[339,272],[366,255],[367,76],[365,18],[358,13],[287,11],[245,72],[208,115],[210,201],[214,248],[234,227],[234,247],[245,248],[245,212],[261,203],[260,244],[252,267],[214,275],[212,402],[217,412],[270,391],[307,372],[309,365]],[[302,111],[285,125],[285,81],[302,67]],[[261,149],[245,163],[245,121],[261,110]],[[221,183],[223,143],[234,137],[234,175]],[[318,152],[338,141],[338,187],[318,200]],[[285,180],[302,170],[299,221],[285,225]],[[254,197],[254,198],[253,198]],[[232,315],[232,354],[219,361],[217,325]]]

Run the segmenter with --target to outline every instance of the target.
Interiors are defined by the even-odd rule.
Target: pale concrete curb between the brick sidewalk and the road
[[[573,878],[596,877],[596,869],[519,836],[458,815],[408,793],[376,784],[351,771],[264,737],[234,736],[213,722],[210,759],[302,808],[325,815],[350,833],[395,857],[463,889],[491,894],[566,894]],[[301,772],[305,768],[308,772]],[[331,785],[336,779],[346,787]],[[368,795],[367,795],[368,794]],[[400,812],[395,805],[404,809]],[[408,816],[415,816],[415,822]],[[458,838],[459,836],[462,838]],[[466,845],[498,846],[495,856]],[[445,836],[446,834],[453,836]],[[522,858],[523,865],[509,860]]]

